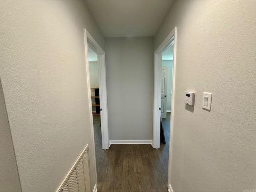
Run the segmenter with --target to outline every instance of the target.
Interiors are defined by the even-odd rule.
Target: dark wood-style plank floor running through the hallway
[[[166,144],[111,145],[102,150],[100,116],[94,115],[98,192],[167,192],[170,113],[163,119]]]

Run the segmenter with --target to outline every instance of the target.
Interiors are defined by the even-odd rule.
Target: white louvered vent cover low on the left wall
[[[91,192],[88,145],[68,172],[57,192]]]

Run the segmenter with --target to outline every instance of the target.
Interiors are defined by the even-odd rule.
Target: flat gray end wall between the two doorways
[[[152,140],[153,37],[106,38],[110,140]]]

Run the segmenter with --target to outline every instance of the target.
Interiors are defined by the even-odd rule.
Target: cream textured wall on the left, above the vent
[[[22,192],[54,192],[87,143],[96,183],[84,32],[104,37],[84,0],[0,1],[0,75]]]

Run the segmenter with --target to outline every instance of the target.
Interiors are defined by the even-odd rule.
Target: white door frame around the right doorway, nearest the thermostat
[[[170,123],[170,152],[169,165],[172,154],[172,130],[174,118],[174,96],[175,96],[175,72],[176,72],[176,47],[177,27],[165,38],[154,53],[154,109],[153,109],[153,148],[160,148],[160,121],[161,121],[161,78],[162,78],[162,53],[174,42],[173,45],[173,75],[172,75],[172,106]],[[170,170],[169,170],[170,171]],[[168,173],[169,178],[169,173]]]

